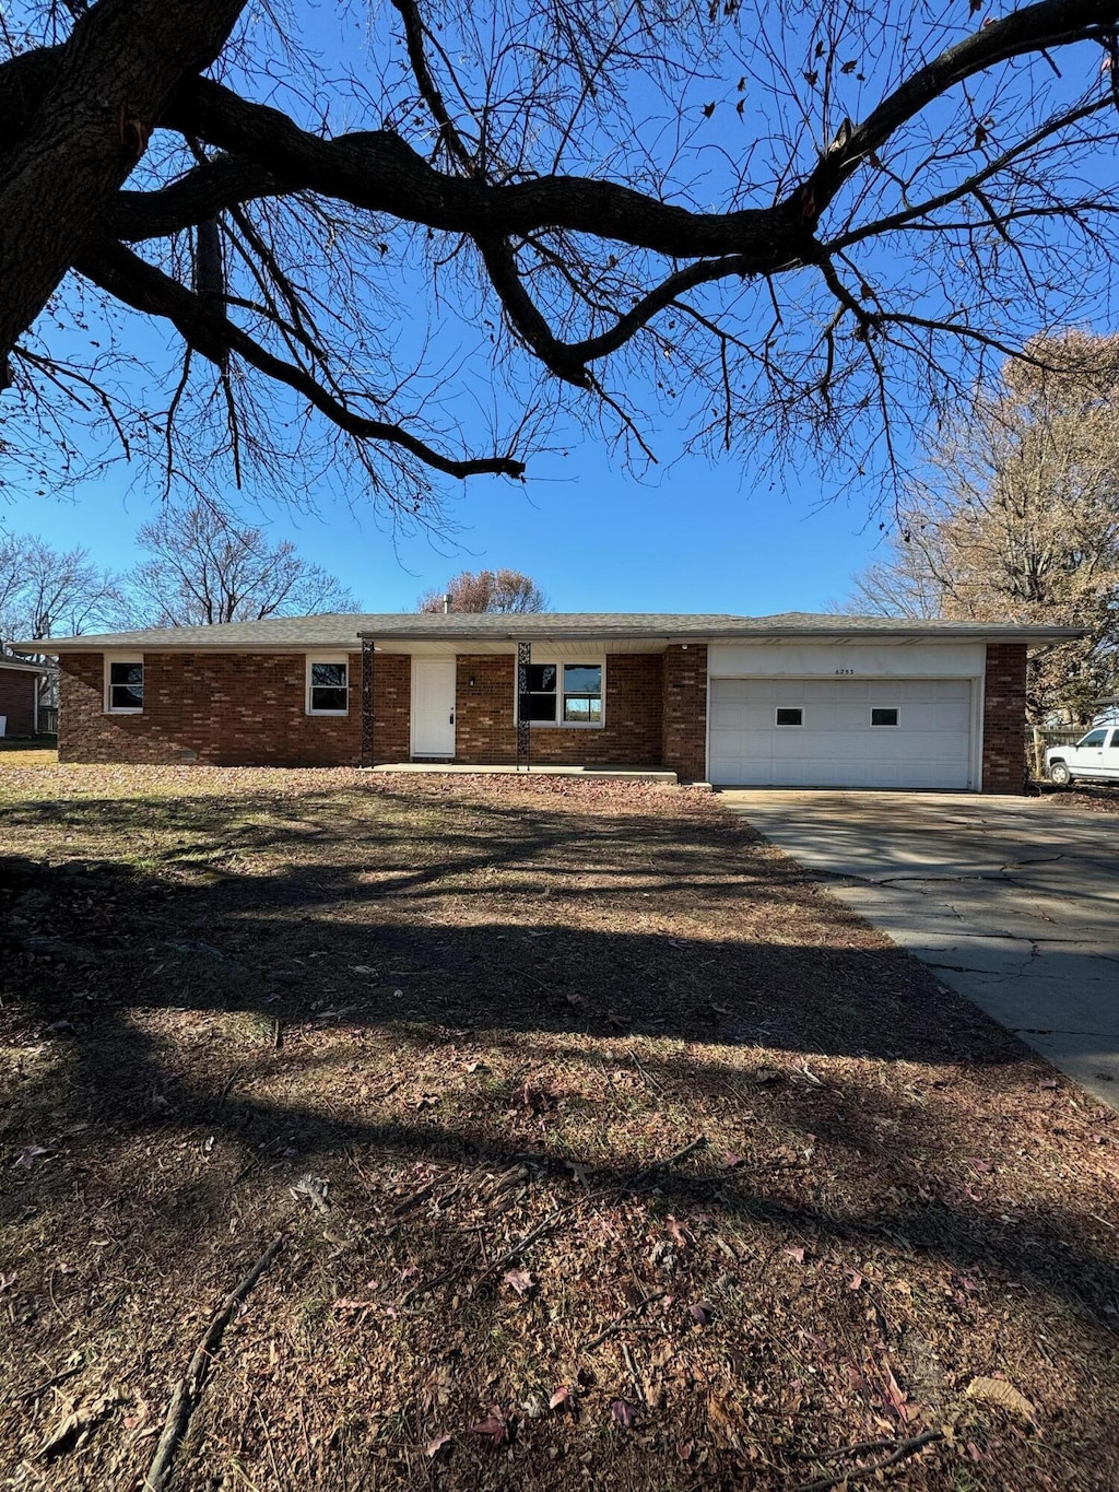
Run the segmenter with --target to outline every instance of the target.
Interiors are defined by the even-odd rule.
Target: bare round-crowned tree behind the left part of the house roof
[[[358,610],[351,592],[291,542],[270,543],[212,504],[167,507],[136,542],[151,554],[127,576],[136,622],[145,627]]]

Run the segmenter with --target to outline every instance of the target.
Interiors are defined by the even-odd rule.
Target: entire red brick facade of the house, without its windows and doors
[[[139,715],[104,712],[101,653],[64,653],[58,662],[61,761],[325,767],[407,761],[412,752],[407,653],[374,655],[373,752],[364,762],[360,652],[349,653],[345,716],[307,715],[304,653],[145,653]],[[455,762],[516,761],[515,674],[512,653],[458,656]],[[1024,719],[1025,648],[991,645],[985,792],[1022,791]],[[9,721],[9,731],[16,730]],[[662,653],[609,653],[603,727],[534,727],[530,759],[539,767],[665,767],[683,782],[701,780],[707,774],[707,648],[691,643]]]

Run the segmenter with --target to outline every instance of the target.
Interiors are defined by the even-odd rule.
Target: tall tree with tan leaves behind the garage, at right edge
[[[1119,336],[1025,351],[956,410],[849,609],[1083,627],[1031,662],[1028,704],[1088,724],[1119,689]]]

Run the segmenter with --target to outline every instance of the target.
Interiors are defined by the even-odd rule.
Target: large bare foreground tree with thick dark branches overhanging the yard
[[[419,515],[557,416],[900,466],[986,358],[1110,313],[1119,0],[985,10],[12,0],[9,460],[333,464]]]

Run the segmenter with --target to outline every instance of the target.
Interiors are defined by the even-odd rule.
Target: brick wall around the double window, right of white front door
[[[515,762],[516,659],[509,653],[463,653],[457,674],[455,761]],[[658,653],[610,653],[604,725],[534,727],[530,761],[549,767],[659,767],[661,697]]]

